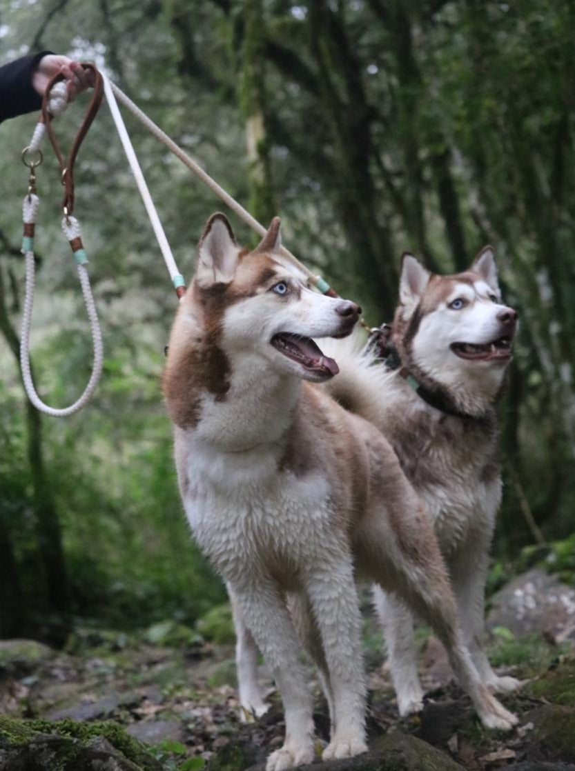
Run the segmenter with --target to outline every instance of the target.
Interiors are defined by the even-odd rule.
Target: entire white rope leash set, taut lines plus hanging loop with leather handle
[[[130,141],[130,136],[127,133],[126,126],[123,122],[123,118],[118,108],[116,96],[123,103],[127,109],[130,110],[134,116],[144,123],[147,130],[149,130],[154,136],[157,137],[167,148],[178,157],[185,166],[188,167],[202,182],[207,185],[219,198],[221,198],[225,204],[228,205],[242,219],[249,227],[258,233],[260,236],[266,234],[266,228],[263,227],[244,207],[228,194],[218,183],[213,180],[208,173],[203,170],[198,163],[196,163],[188,153],[185,153],[178,144],[176,144],[164,131],[161,130],[148,116],[140,110],[140,108],[129,99],[108,77],[100,72],[94,64],[91,62],[83,62],[83,68],[93,73],[93,96],[90,101],[90,106],[86,111],[83,123],[80,126],[73,145],[70,149],[69,155],[65,160],[56,140],[56,134],[54,133],[52,120],[56,116],[61,115],[66,109],[66,86],[62,82],[63,76],[54,76],[48,86],[46,86],[46,92],[42,100],[42,115],[39,123],[36,125],[32,140],[29,146],[22,150],[22,161],[26,167],[29,168],[29,188],[28,193],[25,196],[23,204],[23,221],[24,221],[24,236],[22,239],[22,253],[25,254],[26,265],[26,278],[25,278],[25,301],[24,312],[22,315],[22,340],[20,345],[20,364],[22,368],[22,379],[24,381],[25,391],[34,406],[41,412],[45,412],[47,415],[53,417],[64,417],[72,415],[73,412],[77,412],[81,409],[90,396],[92,396],[96,385],[100,379],[103,365],[103,343],[102,335],[100,332],[100,324],[96,314],[96,306],[93,301],[92,290],[90,288],[90,278],[86,268],[88,257],[83,247],[83,242],[80,235],[79,222],[76,217],[73,217],[74,210],[74,165],[76,163],[76,157],[79,152],[79,148],[86,136],[86,133],[90,129],[93,123],[100,105],[102,103],[103,94],[106,94],[108,106],[110,107],[110,113],[112,114],[113,121],[116,125],[117,132],[120,136],[120,141],[123,146],[123,150],[126,153],[128,163],[134,174],[140,196],[144,201],[144,207],[147,210],[148,217],[150,218],[154,234],[157,239],[157,243],[160,247],[162,256],[166,263],[167,270],[170,274],[171,281],[174,284],[174,289],[178,298],[181,298],[185,292],[184,277],[178,271],[178,266],[174,260],[174,255],[171,252],[170,245],[167,242],[167,237],[164,233],[164,228],[161,225],[160,218],[157,215],[154,201],[151,198],[150,191],[148,190],[144,174],[138,163],[134,147]],[[90,380],[86,385],[82,396],[76,400],[72,405],[64,407],[62,409],[56,409],[46,405],[42,402],[42,399],[38,396],[34,383],[32,381],[32,373],[30,371],[30,359],[29,359],[29,339],[30,339],[30,326],[32,322],[32,305],[34,298],[35,287],[35,258],[34,258],[34,231],[36,224],[36,216],[39,208],[39,197],[36,192],[36,168],[42,163],[42,151],[40,150],[40,143],[42,138],[48,134],[49,140],[52,143],[52,148],[56,154],[56,158],[59,163],[60,171],[62,174],[61,181],[64,186],[64,199],[63,199],[63,221],[62,228],[72,248],[74,259],[76,261],[76,267],[79,274],[79,281],[82,287],[82,293],[84,298],[84,304],[86,305],[86,312],[90,322],[90,331],[93,341],[93,365]],[[34,160],[29,160],[29,155],[36,153]],[[321,276],[318,276],[310,271],[303,263],[301,263],[295,255],[293,255],[286,247],[280,247],[281,254],[289,261],[296,265],[300,271],[306,275],[309,284],[312,284],[323,295],[337,298],[337,292],[330,287]],[[367,328],[370,332],[375,333],[376,329],[370,329],[361,319],[360,323]]]

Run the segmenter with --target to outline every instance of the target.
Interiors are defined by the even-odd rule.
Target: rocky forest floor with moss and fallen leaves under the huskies
[[[575,590],[539,569],[492,602],[490,653],[525,678],[502,699],[519,715],[511,734],[487,732],[450,679],[441,646],[421,635],[428,698],[401,720],[366,612],[370,752],[326,771],[498,769],[575,771]],[[243,771],[282,742],[279,699],[241,722],[227,608],[191,630],[173,621],[141,635],[80,629],[65,651],[0,641],[0,771]],[[318,757],[329,723],[313,670]],[[246,715],[243,715],[244,719]]]

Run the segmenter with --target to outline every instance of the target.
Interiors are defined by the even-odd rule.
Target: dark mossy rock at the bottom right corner
[[[525,718],[534,726],[527,740],[528,758],[575,763],[575,709],[544,704]]]

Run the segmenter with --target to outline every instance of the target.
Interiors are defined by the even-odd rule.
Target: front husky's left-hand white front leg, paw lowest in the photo
[[[232,585],[232,594],[282,695],[286,739],[269,756],[266,771],[283,771],[313,760],[312,699],[299,663],[299,643],[276,584]]]

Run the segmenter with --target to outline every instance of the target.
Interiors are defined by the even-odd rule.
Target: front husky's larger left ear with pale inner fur
[[[228,218],[218,212],[205,225],[198,244],[196,280],[201,286],[232,281],[238,265],[239,247]]]

